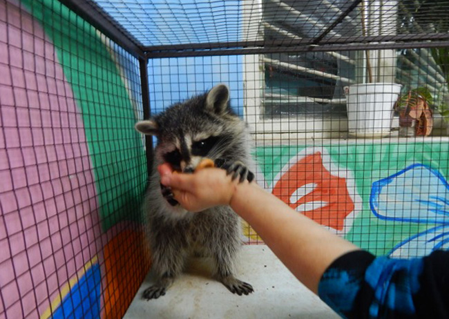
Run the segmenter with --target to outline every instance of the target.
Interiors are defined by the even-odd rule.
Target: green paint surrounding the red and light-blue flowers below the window
[[[349,172],[356,195],[361,198],[361,211],[354,218],[345,238],[376,255],[388,253],[395,245],[425,231],[434,224],[381,220],[370,209],[372,184],[390,177],[413,164],[426,165],[449,177],[448,142],[332,142],[314,147],[325,151],[338,170]],[[307,145],[307,147],[310,147]],[[275,177],[292,158],[307,148],[305,145],[269,146],[256,148],[256,158],[272,188]],[[425,213],[425,212],[423,212]]]

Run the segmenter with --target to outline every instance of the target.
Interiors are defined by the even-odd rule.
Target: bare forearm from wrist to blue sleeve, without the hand
[[[318,283],[329,264],[359,249],[297,213],[257,184],[238,184],[230,205],[314,293],[318,293]]]

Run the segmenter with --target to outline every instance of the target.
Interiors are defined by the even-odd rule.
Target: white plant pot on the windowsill
[[[345,87],[347,125],[352,137],[390,134],[394,102],[401,93],[395,83],[355,84]]]

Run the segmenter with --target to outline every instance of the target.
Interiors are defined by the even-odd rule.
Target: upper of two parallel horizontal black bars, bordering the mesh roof
[[[333,44],[346,44],[352,45],[353,43],[372,43],[372,42],[397,42],[397,41],[427,41],[427,40],[439,40],[449,41],[448,33],[415,33],[412,35],[375,35],[363,37],[362,35],[351,37],[332,37],[321,41],[320,46],[328,46]],[[147,57],[157,57],[161,54],[166,54],[167,57],[191,57],[204,54],[215,55],[211,52],[232,52],[233,50],[269,50],[274,52],[287,52],[287,48],[295,48],[304,46],[314,46],[318,43],[313,43],[314,39],[292,39],[286,41],[285,39],[278,39],[272,41],[238,41],[238,42],[214,42],[214,43],[189,43],[178,44],[172,46],[145,46],[142,47],[146,51]],[[380,43],[379,43],[380,45]],[[192,53],[194,51],[200,52],[200,54]],[[176,53],[180,52],[180,53]],[[183,55],[185,53],[185,55]],[[229,54],[229,53],[222,53]],[[251,54],[251,53],[249,53]],[[219,55],[219,54],[218,54]]]

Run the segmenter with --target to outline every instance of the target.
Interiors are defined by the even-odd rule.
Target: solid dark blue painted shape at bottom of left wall
[[[59,319],[97,319],[100,317],[102,276],[99,264],[93,264],[70,290],[53,313]]]

